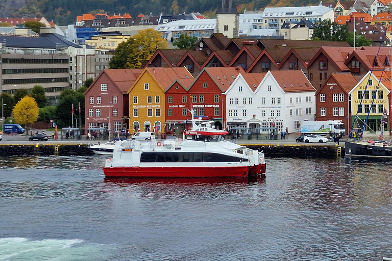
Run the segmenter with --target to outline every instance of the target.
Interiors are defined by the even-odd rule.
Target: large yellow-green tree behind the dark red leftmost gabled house
[[[165,39],[154,29],[140,31],[126,42],[118,44],[109,62],[111,69],[140,68],[159,48],[168,48]]]

